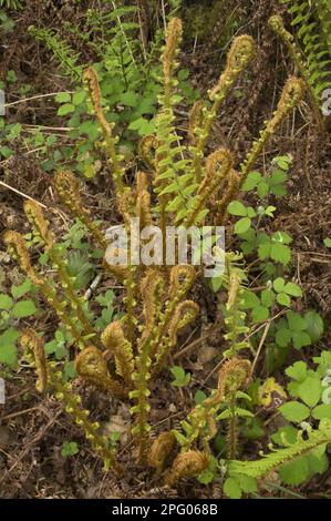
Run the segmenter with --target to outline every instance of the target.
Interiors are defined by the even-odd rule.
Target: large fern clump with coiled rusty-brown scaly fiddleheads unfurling
[[[178,101],[174,72],[180,39],[182,21],[172,19],[162,55],[163,80],[156,134],[144,139],[141,144],[141,155],[147,172],[136,172],[134,186],[127,182],[125,159],[118,152],[115,125],[107,120],[103,109],[97,74],[92,67],[84,71],[84,88],[100,127],[101,149],[112,173],[117,211],[130,239],[133,239],[132,219],[137,217],[141,229],[157,224],[163,232],[167,225],[176,223],[183,223],[186,229],[204,223],[224,224],[228,203],[236,198],[269,139],[303,95],[302,82],[296,78],[289,79],[275,113],[266,122],[237,172],[229,150],[219,149],[207,155],[206,143],[220,103],[254,53],[254,41],[246,35],[234,41],[226,70],[210,92],[211,106],[207,103],[195,106],[190,115],[189,129],[194,144],[185,145],[176,129],[174,112]],[[38,244],[39,252],[43,249],[48,254],[54,278],[45,279],[40,267],[32,265],[28,245],[18,232],[7,232],[4,241],[12,256],[73,338],[77,376],[83,382],[97,386],[116,399],[131,401],[134,419],[132,437],[137,462],[163,472],[173,459],[173,464],[165,473],[167,486],[206,470],[213,459],[207,441],[216,435],[216,421],[221,419],[217,415],[224,405],[227,407],[224,418],[229,420],[228,452],[234,458],[237,454],[237,418],[242,416],[238,400],[245,395],[251,370],[250,361],[241,358],[241,351],[249,345],[245,339],[247,327],[242,324],[245,313],[240,310],[245,272],[242,266],[238,266],[239,257],[228,254],[227,272],[224,275],[228,292],[228,349],[224,353],[225,362],[219,372],[218,388],[201,407],[194,408],[189,413],[183,425],[186,436],[164,432],[153,442],[149,438],[153,428],[151,380],[163,375],[169,356],[176,349],[178,335],[199,313],[198,305],[189,295],[198,270],[189,264],[180,264],[178,259],[174,266],[166,266],[164,255],[157,257],[156,262],[154,258],[152,266],[125,262],[124,246],[115,244],[110,251],[102,225],[84,207],[75,176],[71,172],[59,172],[54,186],[61,201],[83,223],[91,239],[103,252],[105,275],[115,276],[125,290],[122,318],[108,324],[100,334],[91,318],[89,302],[76,292],[75,277],[68,269],[68,260],[41,207],[33,201],[25,203],[33,244]],[[29,329],[23,331],[21,344],[28,360],[35,365],[38,390],[53,389],[58,399],[64,402],[66,411],[82,427],[106,469],[121,473],[120,458],[101,435],[99,423],[89,421],[89,411],[82,408],[80,397],[72,392],[70,384],[63,381],[61,366],[45,358],[43,339]],[[204,441],[206,431],[208,436]],[[179,453],[178,441],[182,446]]]

